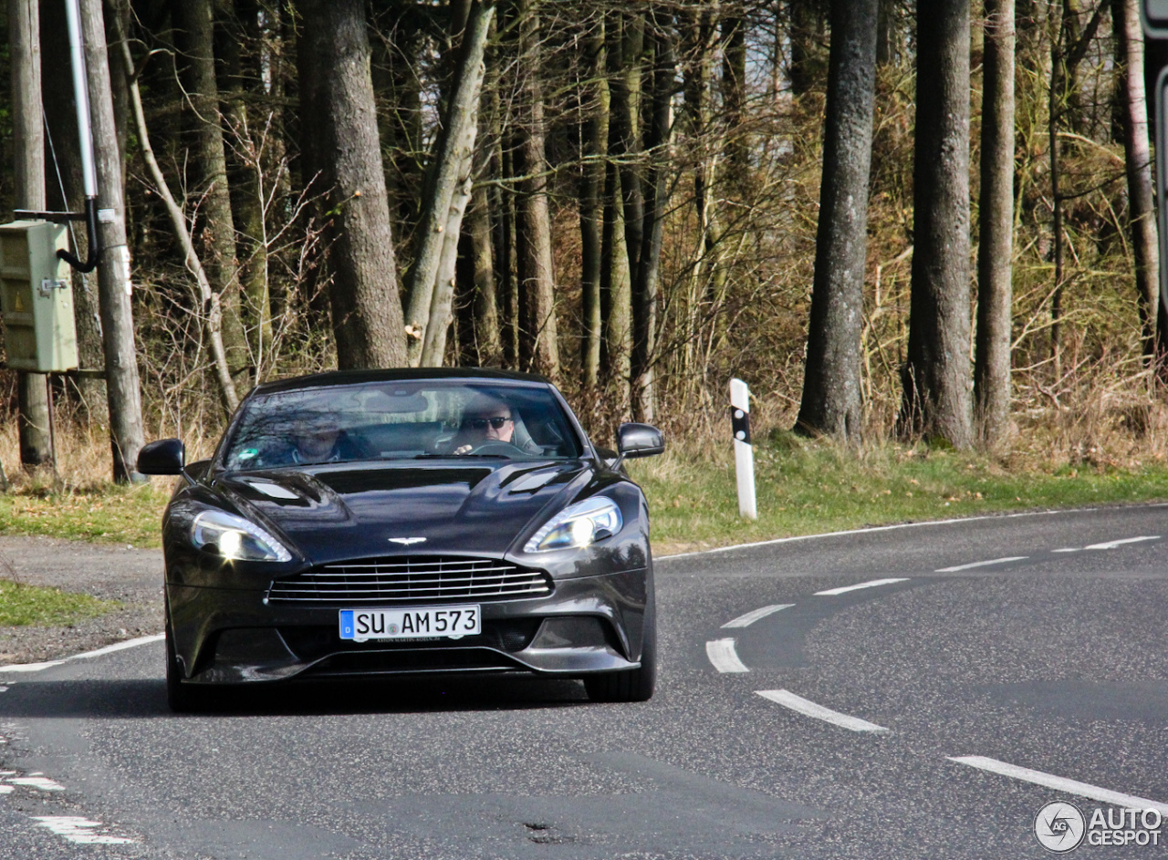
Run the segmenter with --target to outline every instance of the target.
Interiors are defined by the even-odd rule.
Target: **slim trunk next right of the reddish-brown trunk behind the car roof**
[[[602,232],[604,224],[605,155],[609,151],[609,82],[605,78],[604,16],[598,15],[584,42],[585,83],[580,88],[584,111],[580,175],[580,382],[586,389],[600,382]]]

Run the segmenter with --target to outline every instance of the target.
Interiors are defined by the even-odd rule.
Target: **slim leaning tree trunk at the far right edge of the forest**
[[[1143,89],[1143,32],[1136,0],[1114,0],[1113,13],[1120,50],[1126,61],[1120,86],[1128,226],[1135,257],[1135,292],[1143,328],[1143,355],[1150,357],[1156,354],[1160,249],[1156,210],[1152,197],[1152,149],[1148,146],[1148,105]]]

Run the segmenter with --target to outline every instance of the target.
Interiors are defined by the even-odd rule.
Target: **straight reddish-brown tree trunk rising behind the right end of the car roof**
[[[538,0],[519,0],[521,81],[516,131],[520,173],[515,211],[522,331],[520,361],[524,370],[549,379],[559,375],[556,334],[556,278],[551,266],[551,212],[548,207],[548,160],[544,154],[542,50]]]

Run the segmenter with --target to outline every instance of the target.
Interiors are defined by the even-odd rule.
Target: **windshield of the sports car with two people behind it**
[[[548,389],[375,382],[251,398],[228,442],[230,470],[361,460],[566,460],[580,442]]]

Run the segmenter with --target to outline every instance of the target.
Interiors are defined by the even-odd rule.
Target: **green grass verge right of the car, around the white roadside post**
[[[755,446],[758,519],[738,516],[728,450],[679,447],[628,464],[645,488],[659,555],[871,525],[1168,499],[1168,466],[1083,462],[1007,470],[968,452],[841,450],[773,433]]]

